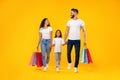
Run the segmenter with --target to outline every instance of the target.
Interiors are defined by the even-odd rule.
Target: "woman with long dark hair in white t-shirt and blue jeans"
[[[47,18],[44,18],[40,24],[39,28],[39,41],[37,45],[37,49],[39,44],[41,43],[41,51],[42,51],[42,62],[44,66],[44,70],[46,71],[48,68],[48,63],[50,60],[50,50],[52,45],[52,28],[50,27],[50,23]]]

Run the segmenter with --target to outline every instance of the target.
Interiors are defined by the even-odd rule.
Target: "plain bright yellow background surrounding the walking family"
[[[68,71],[66,46],[63,47],[61,71],[55,71],[53,49],[47,72],[30,67],[36,51],[38,29],[47,17],[53,28],[62,30],[70,19],[70,9],[77,8],[85,21],[87,47],[93,64],[79,64],[79,73]],[[119,0],[0,0],[0,79],[1,80],[119,80],[120,74],[120,1]],[[83,48],[83,36],[81,33]],[[72,51],[74,63],[74,50]],[[72,65],[72,67],[74,64]]]

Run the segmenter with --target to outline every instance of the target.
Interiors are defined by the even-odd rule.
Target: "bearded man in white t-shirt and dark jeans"
[[[79,64],[79,56],[80,56],[80,30],[83,31],[84,35],[84,46],[86,46],[86,31],[85,31],[85,24],[84,21],[78,18],[78,10],[71,9],[71,20],[67,23],[67,28],[65,32],[64,40],[68,37],[67,42],[67,59],[68,59],[68,69],[71,68],[71,51],[72,47],[75,46],[75,65],[74,65],[74,72],[78,72],[78,64]]]

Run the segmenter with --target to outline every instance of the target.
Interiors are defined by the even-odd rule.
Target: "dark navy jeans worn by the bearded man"
[[[79,56],[80,56],[80,40],[68,40],[67,43],[67,59],[68,63],[71,63],[71,51],[73,45],[75,46],[75,65],[74,67],[78,67],[79,64]]]

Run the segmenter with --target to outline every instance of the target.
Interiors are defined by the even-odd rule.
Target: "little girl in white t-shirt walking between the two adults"
[[[56,56],[56,71],[59,72],[60,69],[60,60],[62,45],[64,45],[64,40],[62,39],[62,33],[60,30],[57,30],[55,33],[55,38],[53,39],[53,46],[55,46],[54,52]]]

